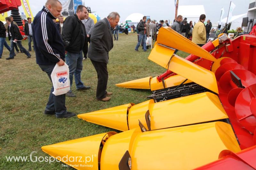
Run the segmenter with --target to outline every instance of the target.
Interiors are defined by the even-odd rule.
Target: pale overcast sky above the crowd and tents
[[[250,0],[232,0],[236,4],[233,15],[247,13]],[[29,0],[30,7],[34,16],[40,11],[46,0]],[[228,16],[230,0],[179,0],[179,5],[204,5],[206,19],[217,22],[220,19],[221,8],[224,7],[225,14]],[[85,0],[85,6],[91,7],[92,11],[97,11],[101,18],[108,16],[111,11],[117,11],[124,21],[132,13],[141,13],[150,16],[151,19],[170,19],[173,21],[175,15],[174,0]],[[23,11],[22,7],[19,7]]]

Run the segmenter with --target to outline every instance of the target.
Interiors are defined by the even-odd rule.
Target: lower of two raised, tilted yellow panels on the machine
[[[173,49],[156,44],[151,50],[148,59],[212,92],[219,93],[217,81],[212,71],[181,58],[178,55],[172,55],[173,52]]]

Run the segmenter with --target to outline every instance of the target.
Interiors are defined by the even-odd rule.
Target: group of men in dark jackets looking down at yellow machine
[[[81,71],[82,61],[87,57],[90,58],[98,76],[96,99],[110,100],[110,95],[113,93],[107,92],[108,53],[114,46],[111,28],[118,25],[120,15],[111,12],[107,18],[94,25],[87,8],[83,5],[79,5],[76,13],[68,16],[65,21],[60,15],[61,9],[60,1],[47,0],[42,11],[39,11],[34,18],[32,33],[36,63],[52,81],[51,73],[54,66],[56,64],[63,66],[66,62],[69,67],[70,87],[73,85],[74,77],[76,90],[87,90],[90,86],[84,85]],[[59,21],[55,23],[56,18],[59,18]],[[76,95],[70,90],[66,94],[55,96],[52,94],[53,90],[52,86],[44,114],[55,115],[57,118],[75,116],[74,113],[67,111],[65,100],[66,96],[76,97]]]

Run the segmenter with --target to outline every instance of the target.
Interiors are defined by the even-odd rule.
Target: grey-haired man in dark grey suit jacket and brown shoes
[[[91,44],[88,49],[88,58],[98,75],[96,98],[101,101],[108,101],[112,92],[107,92],[108,84],[108,52],[113,48],[113,35],[111,27],[115,28],[119,22],[120,15],[111,12],[107,18],[98,21],[92,31]]]

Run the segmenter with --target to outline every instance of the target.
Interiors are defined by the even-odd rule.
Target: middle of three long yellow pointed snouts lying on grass
[[[129,108],[128,111],[127,108]],[[147,127],[145,114],[148,110],[153,130],[228,118],[218,96],[210,92],[157,103],[151,99],[137,105],[127,104],[77,115],[77,117],[125,131],[138,128],[138,120]]]

